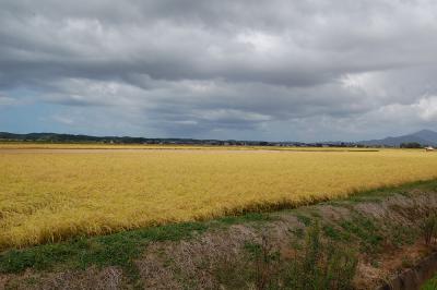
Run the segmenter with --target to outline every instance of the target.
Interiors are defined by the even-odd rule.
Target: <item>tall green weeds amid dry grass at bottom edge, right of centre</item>
[[[247,259],[239,264],[222,264],[217,279],[226,289],[241,289],[253,285],[256,289],[351,289],[356,271],[356,253],[342,250],[338,244],[323,241],[319,222],[306,233],[302,251],[293,257],[281,256],[263,238],[261,243],[247,242]],[[238,269],[239,275],[232,275]],[[223,274],[231,274],[226,279]]]

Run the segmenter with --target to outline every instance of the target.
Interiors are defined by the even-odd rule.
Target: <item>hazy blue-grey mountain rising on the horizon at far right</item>
[[[368,140],[357,142],[358,144],[367,146],[394,146],[399,147],[402,143],[418,143],[422,146],[432,145],[437,146],[437,132],[432,130],[422,130],[412,134],[402,135],[398,137],[386,137],[381,140]]]

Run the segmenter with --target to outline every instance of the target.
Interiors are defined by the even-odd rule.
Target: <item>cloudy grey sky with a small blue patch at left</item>
[[[435,0],[0,0],[0,131],[378,138],[436,76]]]

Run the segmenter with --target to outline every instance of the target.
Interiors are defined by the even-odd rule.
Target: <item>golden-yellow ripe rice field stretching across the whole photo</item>
[[[422,150],[0,149],[0,250],[437,178]]]

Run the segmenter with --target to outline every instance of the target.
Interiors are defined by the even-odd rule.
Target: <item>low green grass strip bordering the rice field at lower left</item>
[[[78,238],[68,242],[9,250],[0,254],[0,273],[20,273],[26,268],[47,270],[55,267],[85,269],[119,266],[134,273],[133,259],[150,242],[189,239],[208,229],[205,223],[185,222],[119,232],[109,235]]]

